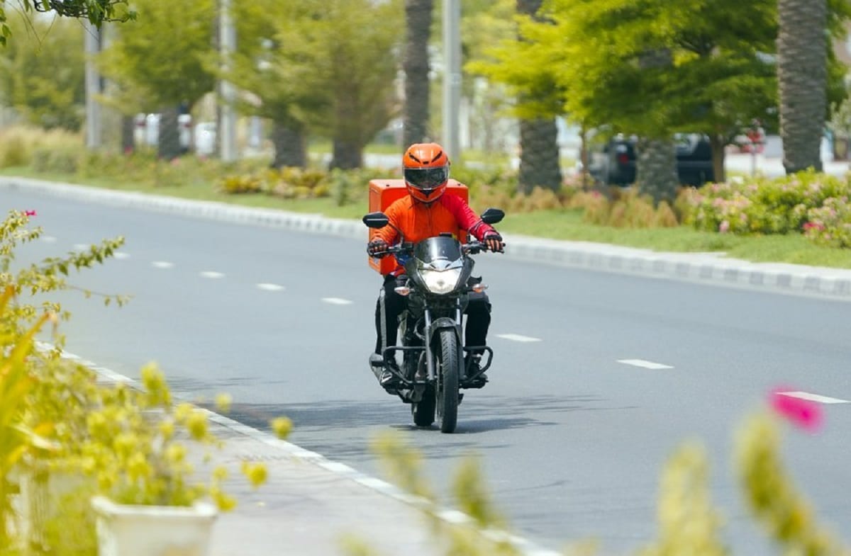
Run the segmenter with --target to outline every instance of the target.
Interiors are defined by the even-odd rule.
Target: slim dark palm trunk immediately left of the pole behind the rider
[[[408,36],[402,67],[405,73],[402,145],[420,143],[428,137],[429,56],[431,12],[434,0],[405,0]]]

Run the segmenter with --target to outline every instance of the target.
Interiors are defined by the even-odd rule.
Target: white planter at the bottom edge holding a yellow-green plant
[[[98,556],[206,556],[218,510],[191,507],[131,506],[103,496],[92,498],[97,516]]]

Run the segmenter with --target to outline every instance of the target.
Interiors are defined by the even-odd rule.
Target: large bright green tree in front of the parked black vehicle
[[[708,135],[716,178],[723,179],[723,145],[776,105],[772,0],[553,0],[547,6],[556,29],[548,37],[555,43],[546,44],[557,50],[551,58],[565,60],[559,82],[568,92],[568,113],[656,145],[651,151],[658,154],[648,157],[663,174],[644,173],[640,187],[657,200],[675,194],[671,133]],[[660,190],[660,183],[669,185]]]

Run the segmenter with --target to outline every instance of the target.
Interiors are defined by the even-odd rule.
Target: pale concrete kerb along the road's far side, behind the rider
[[[214,201],[101,190],[28,178],[0,178],[0,187],[235,224],[260,224],[363,241],[368,236],[367,229],[357,220],[325,218],[319,214],[237,207]],[[721,253],[714,252],[654,252],[589,241],[557,241],[523,235],[505,235],[505,241],[508,244],[507,257],[536,263],[851,301],[851,269],[751,263],[724,258]]]

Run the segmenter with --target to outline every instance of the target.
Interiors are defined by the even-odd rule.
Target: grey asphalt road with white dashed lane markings
[[[130,377],[157,360],[178,393],[227,392],[231,417],[256,428],[287,415],[294,444],[368,474],[383,476],[375,434],[400,431],[446,502],[460,458],[480,457],[497,507],[546,547],[589,537],[601,553],[643,546],[656,530],[661,465],[696,438],[711,454],[734,553],[768,556],[740,503],[734,429],[779,385],[851,400],[851,304],[483,254],[491,383],[468,391],[457,434],[415,429],[368,371],[380,278],[360,241],[4,191],[12,208],[36,209],[45,233],[20,264],[127,238],[120,258],[70,280],[132,295],[127,306],[51,296],[73,314],[62,326],[69,352]],[[824,408],[820,434],[785,434],[785,462],[851,540],[851,404]]]

